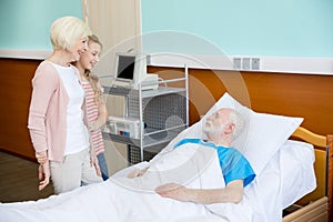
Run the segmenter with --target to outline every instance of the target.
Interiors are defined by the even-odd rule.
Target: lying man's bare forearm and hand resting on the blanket
[[[163,198],[202,204],[239,203],[243,198],[243,180],[234,180],[224,189],[188,189],[169,183],[157,188],[155,192]]]

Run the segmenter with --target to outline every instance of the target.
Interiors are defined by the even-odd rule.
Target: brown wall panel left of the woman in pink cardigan
[[[0,58],[0,149],[33,159],[28,132],[31,79],[40,61]]]

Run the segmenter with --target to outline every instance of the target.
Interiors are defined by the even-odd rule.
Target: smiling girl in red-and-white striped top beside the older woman
[[[99,62],[102,43],[97,36],[89,36],[88,50],[80,60],[74,62],[81,74],[81,83],[85,91],[85,107],[90,125],[91,147],[99,160],[103,180],[109,179],[108,164],[104,155],[104,141],[101,127],[108,120],[108,110],[103,100],[103,88],[97,75],[91,74],[91,69]]]

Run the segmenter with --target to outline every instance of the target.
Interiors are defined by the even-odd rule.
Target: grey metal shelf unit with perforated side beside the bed
[[[183,77],[159,79],[158,83],[154,90],[142,90],[143,84],[138,90],[103,85],[105,93],[124,97],[125,111],[121,118],[139,120],[137,138],[114,132],[110,122],[109,130],[103,132],[104,139],[128,145],[131,164],[149,160],[189,127],[188,67]]]

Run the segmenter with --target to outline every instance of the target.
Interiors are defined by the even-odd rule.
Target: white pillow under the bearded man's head
[[[254,112],[225,92],[198,123],[184,130],[167,147],[167,150],[183,138],[204,138],[202,124],[209,115],[221,108],[232,108],[242,114],[246,124],[232,147],[246,157],[256,174],[303,121],[303,118]]]

